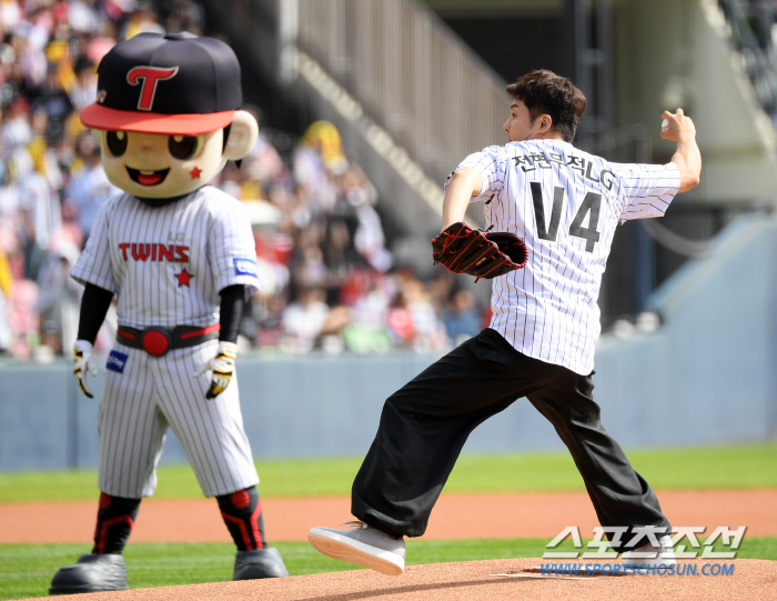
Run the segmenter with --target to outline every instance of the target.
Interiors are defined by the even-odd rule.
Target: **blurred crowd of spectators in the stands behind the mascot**
[[[196,0],[0,0],[0,354],[69,357],[75,340],[82,289],[69,272],[118,192],[78,119],[100,59],[141,31],[203,26]],[[285,157],[260,137],[212,183],[245,203],[256,241],[261,292],[242,322],[244,345],[434,352],[487,320],[444,269],[422,282],[394,264],[377,193],[332,123],[312,123]],[[110,311],[98,351],[114,331]]]

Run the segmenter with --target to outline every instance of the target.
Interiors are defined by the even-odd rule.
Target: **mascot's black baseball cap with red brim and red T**
[[[81,111],[88,128],[198,136],[226,127],[243,103],[240,63],[215,38],[139,33],[98,67],[98,98]]]

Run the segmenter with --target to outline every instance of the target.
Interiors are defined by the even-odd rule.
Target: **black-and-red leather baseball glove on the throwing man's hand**
[[[528,259],[523,238],[508,232],[473,230],[461,221],[436,236],[432,250],[435,263],[443,263],[454,273],[475,276],[475,281],[521,269]]]

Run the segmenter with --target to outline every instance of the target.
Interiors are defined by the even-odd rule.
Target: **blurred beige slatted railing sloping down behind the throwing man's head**
[[[467,154],[504,143],[506,82],[420,2],[293,3],[297,47],[440,183]]]

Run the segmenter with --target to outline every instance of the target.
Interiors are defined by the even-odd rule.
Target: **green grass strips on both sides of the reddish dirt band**
[[[658,490],[777,488],[777,444],[627,451],[635,469]],[[347,495],[361,458],[258,461],[262,497]],[[158,470],[155,498],[201,498],[189,465]],[[463,455],[445,492],[584,490],[567,453]],[[94,500],[95,470],[0,473],[0,503]],[[547,540],[411,540],[408,564],[539,557]],[[565,541],[568,543],[568,541]],[[279,542],[292,575],[354,569],[307,543]],[[51,577],[72,563],[84,544],[0,544],[0,601],[44,597]],[[230,580],[231,543],[131,543],[124,552],[131,588]],[[777,560],[777,538],[745,538],[737,557]]]

